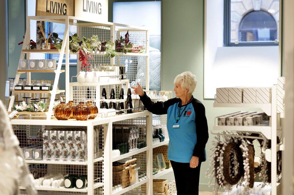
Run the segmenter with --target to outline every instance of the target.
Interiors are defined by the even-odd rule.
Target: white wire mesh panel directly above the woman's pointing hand
[[[119,66],[126,67],[127,79],[130,86],[136,86],[140,83],[143,89],[146,89],[146,56],[118,56],[116,62]]]

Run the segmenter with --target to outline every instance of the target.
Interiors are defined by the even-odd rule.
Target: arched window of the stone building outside
[[[246,14],[239,25],[239,42],[275,41],[277,23],[265,11],[252,11]]]

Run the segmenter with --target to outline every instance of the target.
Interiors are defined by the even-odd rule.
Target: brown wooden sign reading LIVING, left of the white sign
[[[74,16],[75,0],[36,0],[36,16]]]

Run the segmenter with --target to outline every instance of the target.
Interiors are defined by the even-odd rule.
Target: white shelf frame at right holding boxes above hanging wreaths
[[[267,104],[247,104],[247,103],[214,103],[213,107],[227,108],[261,108],[270,116],[269,126],[213,126],[214,135],[223,135],[223,131],[249,132],[262,134],[266,139],[271,140],[271,148],[265,150],[265,158],[271,162],[271,194],[279,195],[281,185],[277,183],[277,151],[283,150],[281,143],[277,143],[277,131],[281,131],[280,114],[277,113],[277,85],[271,88],[271,103]],[[228,134],[229,135],[229,134]]]

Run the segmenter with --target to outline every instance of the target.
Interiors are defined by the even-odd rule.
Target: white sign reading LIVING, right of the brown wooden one
[[[75,16],[108,22],[108,0],[75,0]]]

